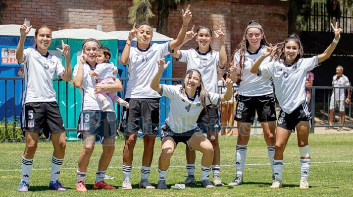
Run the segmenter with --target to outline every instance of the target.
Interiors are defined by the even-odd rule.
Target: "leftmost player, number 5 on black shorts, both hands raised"
[[[57,48],[65,56],[64,68],[59,58],[48,52],[52,41],[52,30],[42,25],[34,33],[35,47],[24,50],[24,42],[31,28],[32,26],[27,27],[25,19],[20,28],[21,36],[16,50],[16,59],[19,63],[24,63],[19,75],[24,75],[25,78],[21,127],[26,141],[18,191],[28,191],[33,158],[38,138],[42,134],[52,140],[54,147],[49,189],[66,191],[59,182],[66,148],[65,127],[53,89],[53,80],[55,74],[61,80],[71,80],[70,46],[62,41],[63,49]]]

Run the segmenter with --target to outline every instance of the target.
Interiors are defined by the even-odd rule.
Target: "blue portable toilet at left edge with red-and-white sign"
[[[16,60],[16,49],[20,40],[21,25],[0,25],[0,77],[18,78],[19,80],[0,80],[0,120],[16,120],[22,109],[22,92],[24,90],[22,76],[17,73],[22,65]],[[35,29],[32,28],[27,34],[24,48],[32,47]]]

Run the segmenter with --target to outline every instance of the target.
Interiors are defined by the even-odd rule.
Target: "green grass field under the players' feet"
[[[122,184],[122,149],[123,141],[116,142],[116,151],[107,174],[117,177],[107,180],[117,190],[93,190],[95,171],[98,164],[102,145],[97,145],[90,159],[87,170],[86,184],[88,191],[79,193],[75,190],[77,159],[81,151],[81,142],[68,142],[66,156],[61,171],[60,181],[68,189],[67,192],[47,190],[50,177],[50,162],[52,144],[40,142],[34,158],[33,170],[30,177],[30,188],[27,193],[17,192],[21,177],[21,155],[24,143],[0,144],[0,196],[353,196],[353,134],[310,135],[310,152],[312,155],[309,190],[300,190],[299,151],[296,146],[296,136],[289,139],[284,152],[283,188],[272,190],[271,169],[267,156],[267,148],[263,136],[251,136],[248,144],[246,164],[244,167],[244,184],[228,187],[227,183],[235,175],[234,154],[236,137],[220,137],[221,146],[221,179],[223,187],[205,189],[200,186],[200,154],[196,157],[195,175],[197,184],[186,187],[185,190],[145,190],[138,189],[143,141],[139,140],[135,147],[135,156],[131,179],[133,190],[124,191]],[[156,141],[155,155],[149,180],[157,187],[158,157],[161,153],[161,142]],[[182,182],[186,177],[185,145],[179,144],[172,156],[171,167],[168,171],[167,184]]]

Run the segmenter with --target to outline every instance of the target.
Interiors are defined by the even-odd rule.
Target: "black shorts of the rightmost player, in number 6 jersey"
[[[302,103],[293,112],[286,113],[279,109],[277,126],[295,132],[295,126],[300,121],[310,121],[312,119],[311,109],[308,102]],[[311,125],[311,124],[310,124]]]

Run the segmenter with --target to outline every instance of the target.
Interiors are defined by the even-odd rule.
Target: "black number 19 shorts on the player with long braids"
[[[235,121],[253,123],[255,111],[258,113],[259,122],[276,121],[275,95],[237,96],[234,114]]]

